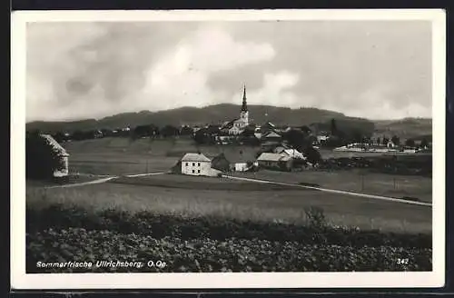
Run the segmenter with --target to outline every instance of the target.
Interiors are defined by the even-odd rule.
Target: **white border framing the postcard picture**
[[[27,22],[427,20],[433,42],[433,271],[427,273],[25,273]],[[446,15],[412,10],[20,11],[12,14],[11,283],[13,289],[441,287],[445,283]]]

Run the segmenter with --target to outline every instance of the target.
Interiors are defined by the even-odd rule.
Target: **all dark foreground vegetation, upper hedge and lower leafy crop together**
[[[331,227],[323,210],[309,224],[252,223],[217,217],[117,210],[97,213],[63,204],[27,209],[27,273],[431,271],[431,235]],[[409,264],[396,262],[408,258]],[[84,260],[90,268],[37,268],[37,262]],[[96,261],[140,266],[96,267]],[[162,266],[148,267],[158,261]]]

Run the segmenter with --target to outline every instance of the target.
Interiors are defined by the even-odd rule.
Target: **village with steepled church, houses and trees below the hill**
[[[334,120],[331,125],[335,125]],[[91,135],[90,135],[91,134]],[[240,116],[223,124],[182,125],[180,128],[166,125],[159,130],[153,125],[137,126],[133,129],[125,127],[112,131],[97,130],[92,132],[74,132],[74,134],[57,133],[42,134],[48,144],[63,159],[64,166],[56,170],[55,177],[69,174],[69,154],[61,143],[98,139],[109,136],[140,138],[180,138],[191,137],[198,145],[242,146],[254,147],[256,150],[225,150],[221,154],[186,152],[175,161],[170,169],[173,174],[219,176],[222,173],[251,172],[259,169],[275,171],[301,171],[307,168],[323,166],[323,158],[319,153],[321,147],[330,144],[335,137],[332,132],[313,132],[311,127],[290,127],[275,125],[271,122],[253,124],[248,110],[246,86],[243,86],[242,107]],[[333,153],[351,154],[417,154],[428,153],[431,142],[426,139],[406,140],[401,145],[399,137],[377,137],[376,139],[360,137],[357,141],[331,148]],[[430,140],[431,141],[431,140]],[[332,143],[332,142],[331,142]],[[341,143],[337,143],[341,144]],[[335,144],[334,144],[335,145]]]

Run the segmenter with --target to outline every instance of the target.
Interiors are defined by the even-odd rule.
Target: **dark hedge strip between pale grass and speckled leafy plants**
[[[322,215],[322,214],[321,214]],[[316,223],[313,223],[313,221]],[[136,214],[118,210],[88,211],[64,204],[45,208],[27,208],[27,233],[36,233],[49,228],[69,227],[87,230],[110,230],[115,233],[151,235],[154,239],[172,236],[183,240],[210,238],[224,241],[229,238],[247,240],[261,239],[278,242],[307,244],[330,244],[351,247],[365,245],[379,247],[431,248],[431,234],[382,233],[360,231],[354,227],[327,226],[324,218],[310,218],[308,225],[238,221],[220,217],[185,218],[174,214]]]

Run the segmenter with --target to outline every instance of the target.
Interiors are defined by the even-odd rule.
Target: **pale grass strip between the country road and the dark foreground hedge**
[[[304,209],[321,207],[332,225],[359,226],[362,229],[430,233],[431,208],[396,204],[349,195],[326,194],[304,189],[213,190],[147,186],[165,181],[158,176],[133,178],[129,184],[109,182],[74,188],[28,187],[27,205],[41,208],[46,204],[79,205],[89,210],[115,209],[130,212],[150,211],[183,216],[215,215],[252,221],[278,221],[304,224]],[[139,182],[138,181],[142,181]],[[142,185],[141,185],[142,184]],[[232,185],[230,184],[230,185]],[[190,184],[187,184],[190,185]],[[193,184],[192,184],[193,185]],[[212,184],[216,185],[216,184]],[[219,184],[218,184],[219,185]],[[248,185],[248,184],[244,184]],[[219,187],[219,186],[218,186]],[[257,185],[257,187],[259,187]],[[265,186],[261,186],[265,187]]]

